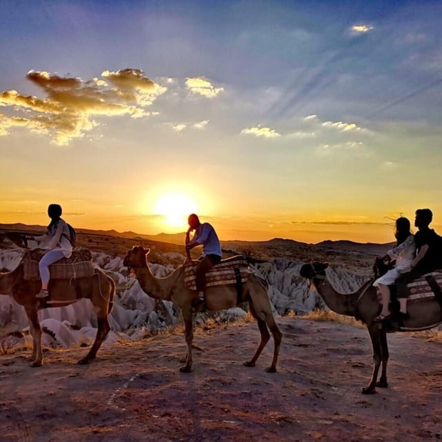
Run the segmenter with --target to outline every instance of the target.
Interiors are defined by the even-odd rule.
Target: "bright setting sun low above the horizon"
[[[167,193],[157,201],[154,207],[155,215],[164,218],[168,227],[186,227],[187,217],[197,210],[195,201],[182,193]]]

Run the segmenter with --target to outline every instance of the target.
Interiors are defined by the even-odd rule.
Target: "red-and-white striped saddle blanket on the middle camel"
[[[195,271],[197,264],[184,266],[184,285],[189,290],[196,290]],[[233,256],[222,260],[206,272],[206,287],[236,284],[236,273],[240,273],[241,282],[249,278],[249,265],[243,256]]]

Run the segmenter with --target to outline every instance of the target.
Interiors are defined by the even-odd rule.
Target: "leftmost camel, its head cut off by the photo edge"
[[[17,236],[9,236],[10,240],[17,240]],[[32,336],[32,356],[28,358],[31,367],[43,365],[43,352],[41,350],[41,327],[37,312],[48,307],[65,307],[81,298],[88,298],[93,304],[97,314],[97,336],[90,347],[88,354],[81,358],[79,364],[87,364],[97,355],[99,347],[108,335],[111,326],[108,323],[108,314],[113,308],[115,295],[115,282],[103,271],[95,269],[90,278],[77,278],[72,283],[70,280],[50,280],[49,298],[36,298],[41,289],[41,281],[28,281],[23,279],[23,262],[12,271],[0,272],[0,294],[9,295],[20,305],[23,305],[30,325]]]

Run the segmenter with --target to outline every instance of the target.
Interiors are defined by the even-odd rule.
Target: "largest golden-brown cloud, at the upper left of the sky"
[[[26,76],[43,90],[46,97],[21,95],[17,90],[0,93],[0,106],[10,107],[20,115],[0,113],[0,135],[13,127],[50,135],[58,146],[83,137],[98,126],[97,116],[128,115],[132,118],[156,115],[145,111],[167,88],[148,79],[140,69],[104,70],[102,77],[83,81],[44,71],[30,70]]]

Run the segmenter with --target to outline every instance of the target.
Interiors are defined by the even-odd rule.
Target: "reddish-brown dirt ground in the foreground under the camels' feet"
[[[48,350],[30,368],[26,352],[0,357],[0,441],[439,441],[442,344],[389,336],[388,389],[361,394],[372,369],[363,328],[278,318],[273,341],[244,367],[256,323],[199,330],[194,371],[179,372],[181,334],[86,349]]]

